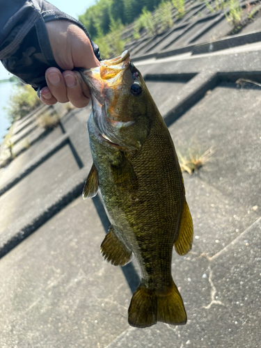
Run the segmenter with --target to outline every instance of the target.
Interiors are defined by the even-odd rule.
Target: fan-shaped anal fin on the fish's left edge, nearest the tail
[[[104,259],[115,266],[124,266],[132,259],[132,251],[129,251],[125,244],[117,237],[113,226],[110,227],[109,233],[104,238],[100,251]]]

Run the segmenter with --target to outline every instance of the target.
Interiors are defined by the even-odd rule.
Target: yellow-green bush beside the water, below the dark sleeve
[[[40,104],[40,99],[31,86],[14,86],[13,95],[11,95],[6,107],[8,119],[13,123],[26,116]]]

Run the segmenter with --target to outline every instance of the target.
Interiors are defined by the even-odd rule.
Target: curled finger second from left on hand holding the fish
[[[60,103],[68,102],[65,81],[61,71],[57,68],[48,68],[45,72],[45,79],[50,92]]]

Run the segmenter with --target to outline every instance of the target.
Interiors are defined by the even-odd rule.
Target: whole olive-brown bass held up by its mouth
[[[124,266],[134,255],[141,269],[129,325],[186,324],[171,260],[173,246],[179,255],[191,250],[193,221],[171,134],[128,51],[81,76],[92,98],[93,157],[83,198],[100,191],[111,223],[100,247],[104,259]]]

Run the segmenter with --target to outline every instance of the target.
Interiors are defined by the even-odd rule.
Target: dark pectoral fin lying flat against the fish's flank
[[[120,155],[116,162],[111,163],[113,181],[120,187],[133,191],[138,189],[139,183],[132,164],[125,155]]]

